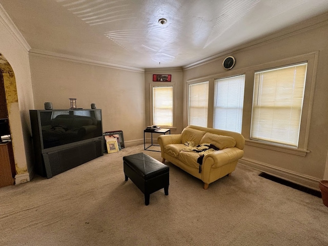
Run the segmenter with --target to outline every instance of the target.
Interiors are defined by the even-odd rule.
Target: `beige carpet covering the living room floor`
[[[122,168],[122,156],[142,151],[128,147],[51,179],[1,188],[0,245],[328,245],[321,198],[242,165],[203,190],[167,162],[169,195],[157,191],[145,206]]]

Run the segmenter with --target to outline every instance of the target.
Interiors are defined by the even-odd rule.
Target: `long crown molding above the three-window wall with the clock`
[[[182,70],[188,70],[188,69],[202,66],[202,65],[205,65],[208,63],[212,63],[213,61],[222,59],[228,55],[233,55],[234,53],[236,53],[240,50],[253,49],[254,47],[268,44],[268,43],[274,42],[278,39],[285,38],[288,36],[293,36],[300,32],[306,32],[311,29],[319,28],[319,27],[321,27],[323,25],[327,25],[327,24],[328,24],[328,13],[324,13],[324,14],[315,16],[313,18],[304,20],[303,22],[297,23],[295,25],[280,29],[271,34],[259,37],[255,40],[252,40],[251,42],[245,43],[243,45],[239,45],[237,47],[231,48],[231,49],[221,52],[219,54],[195,61],[194,63],[183,66]]]

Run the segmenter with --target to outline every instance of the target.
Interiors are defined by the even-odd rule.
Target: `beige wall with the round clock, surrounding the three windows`
[[[211,77],[213,75],[218,77],[231,76],[234,72],[246,74],[242,134],[248,140],[250,138],[254,81],[251,75],[252,72],[254,73],[254,67],[311,52],[317,54],[312,115],[309,115],[311,117],[308,139],[308,150],[310,152],[305,156],[298,156],[252,146],[246,142],[244,158],[240,161],[241,163],[318,189],[318,181],[323,179],[326,169],[328,150],[327,38],[328,14],[325,14],[310,20],[308,23],[282,30],[269,37],[239,47],[236,51],[224,54],[207,64],[183,71],[185,82],[190,79]],[[222,60],[228,55],[233,55],[236,58],[236,65],[232,70],[225,71],[222,68]],[[187,90],[186,87],[185,90]]]

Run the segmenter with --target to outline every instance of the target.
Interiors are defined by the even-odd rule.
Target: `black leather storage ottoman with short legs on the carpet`
[[[150,194],[164,188],[169,195],[169,167],[144,153],[123,157],[125,180],[130,178],[145,194],[145,204],[149,204]]]

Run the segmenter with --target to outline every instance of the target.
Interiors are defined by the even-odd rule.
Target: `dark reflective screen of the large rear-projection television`
[[[39,111],[44,149],[102,137],[101,110]]]

